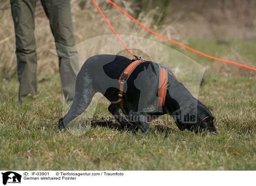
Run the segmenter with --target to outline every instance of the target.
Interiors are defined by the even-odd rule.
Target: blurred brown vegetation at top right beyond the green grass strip
[[[188,38],[256,38],[255,0],[173,0],[172,21]]]

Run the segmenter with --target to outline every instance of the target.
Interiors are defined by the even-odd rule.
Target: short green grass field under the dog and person
[[[255,41],[189,41],[189,46],[256,67]],[[217,136],[179,131],[165,121],[151,123],[169,127],[155,135],[99,126],[80,137],[59,134],[58,75],[39,75],[38,96],[23,103],[17,100],[17,77],[1,76],[0,169],[256,170],[256,73],[175,49],[207,67],[199,100],[215,116]]]

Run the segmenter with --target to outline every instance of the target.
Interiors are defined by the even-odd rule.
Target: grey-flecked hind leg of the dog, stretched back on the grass
[[[76,79],[76,92],[73,103],[67,114],[63,118],[59,119],[59,131],[62,131],[69,122],[84,112],[84,110],[89,106],[95,93],[96,91],[93,89],[89,79],[87,79],[87,81],[81,81],[78,75]]]

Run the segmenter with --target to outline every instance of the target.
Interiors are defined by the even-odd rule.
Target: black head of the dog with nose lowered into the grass
[[[215,117],[209,109],[198,100],[181,105],[172,115],[174,116],[177,127],[181,131],[188,129],[195,133],[201,131],[217,133],[213,123]]]

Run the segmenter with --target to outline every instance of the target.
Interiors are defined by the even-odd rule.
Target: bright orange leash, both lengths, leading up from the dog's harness
[[[220,59],[220,58],[215,58],[215,57],[212,57],[210,55],[207,55],[203,52],[199,52],[195,49],[192,49],[190,48],[189,46],[186,46],[186,45],[183,45],[183,44],[180,44],[178,43],[177,41],[174,41],[172,39],[169,39],[169,38],[166,38],[164,37],[163,35],[160,35],[160,34],[157,34],[156,32],[152,31],[151,29],[148,29],[146,26],[144,26],[142,23],[140,23],[139,21],[137,21],[136,19],[134,19],[133,17],[131,17],[131,15],[128,15],[125,11],[123,11],[119,6],[117,6],[115,3],[113,3],[111,0],[108,0],[109,3],[111,3],[113,6],[115,6],[117,9],[119,9],[122,13],[124,13],[125,15],[127,15],[128,17],[130,17],[132,20],[134,20],[136,23],[138,23],[140,26],[142,26],[144,29],[148,30],[148,32],[151,32],[152,34],[154,35],[157,35],[167,41],[171,41],[177,45],[180,45],[180,46],[183,46],[184,48],[186,49],[189,49],[193,52],[196,52],[200,55],[204,55],[205,57],[207,58],[211,58],[211,59],[214,59],[214,60],[217,60],[217,61],[223,61],[223,62],[226,62],[226,63],[230,63],[230,64],[235,64],[235,65],[238,65],[238,66],[241,66],[241,67],[245,67],[245,68],[248,68],[248,69],[251,69],[251,70],[255,70],[256,71],[256,68],[253,68],[253,67],[249,67],[247,65],[244,65],[244,64],[240,64],[240,63],[236,63],[236,62],[233,62],[233,61],[228,61],[228,60],[225,60],[225,59]],[[119,38],[119,35],[116,33],[116,31],[112,28],[112,26],[110,25],[110,23],[108,22],[108,20],[106,19],[106,17],[103,15],[102,11],[99,9],[99,6],[97,5],[97,3],[95,2],[95,0],[93,0],[93,3],[96,5],[96,7],[98,8],[99,12],[101,13],[101,15],[104,17],[104,19],[106,20],[106,22],[108,23],[108,25],[110,26],[110,28],[113,30],[113,32],[116,34],[117,38],[119,39],[119,41],[125,46],[125,44],[122,42],[122,40]],[[126,46],[125,48],[127,49],[127,51],[131,54],[131,55],[134,55]]]

